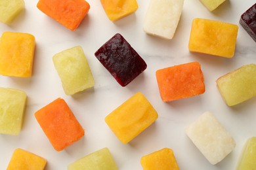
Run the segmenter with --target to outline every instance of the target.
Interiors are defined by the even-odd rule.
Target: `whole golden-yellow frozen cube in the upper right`
[[[237,35],[238,25],[196,18],[192,22],[188,48],[191,52],[232,58]]]

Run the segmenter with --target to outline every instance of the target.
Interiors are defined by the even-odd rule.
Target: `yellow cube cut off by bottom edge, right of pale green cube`
[[[173,150],[170,148],[163,148],[146,156],[142,156],[140,163],[143,170],[179,170]]]

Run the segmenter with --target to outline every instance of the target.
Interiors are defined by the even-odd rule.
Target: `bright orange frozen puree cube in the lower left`
[[[35,112],[37,122],[57,151],[83,137],[85,131],[64,99],[56,99]]]

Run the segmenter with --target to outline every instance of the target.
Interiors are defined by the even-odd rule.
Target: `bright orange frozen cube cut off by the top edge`
[[[85,0],[39,0],[37,8],[68,29],[75,31],[90,9]]]

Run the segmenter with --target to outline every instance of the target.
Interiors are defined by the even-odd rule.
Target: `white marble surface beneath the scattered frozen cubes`
[[[256,135],[256,97],[235,107],[228,107],[219,94],[215,80],[242,65],[256,63],[256,43],[239,24],[240,15],[253,0],[227,0],[209,12],[199,0],[185,0],[181,20],[171,41],[146,35],[142,22],[149,1],[138,0],[135,14],[117,22],[108,20],[99,0],[88,0],[89,15],[72,32],[36,8],[37,1],[25,0],[26,10],[4,31],[32,33],[36,52],[32,78],[0,76],[0,86],[26,91],[28,101],[20,135],[0,135],[0,169],[5,169],[15,148],[23,148],[48,160],[46,169],[66,166],[87,154],[108,147],[121,170],[142,169],[140,158],[161,148],[172,148],[180,169],[235,169],[245,140]],[[220,58],[188,51],[193,18],[207,18],[238,24],[234,58]],[[148,64],[148,68],[125,88],[95,58],[96,50],[115,33],[121,33]],[[95,78],[95,87],[73,96],[64,94],[53,65],[53,55],[81,45]],[[202,95],[163,103],[158,91],[157,69],[198,61],[205,76]],[[142,92],[158,111],[159,118],[129,144],[122,144],[104,122],[104,118],[136,92]],[[85,128],[85,137],[61,152],[56,152],[37,124],[33,114],[57,97],[66,100]],[[211,165],[185,135],[185,128],[205,111],[211,111],[230,132],[236,148],[223,161]]]

